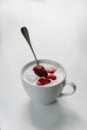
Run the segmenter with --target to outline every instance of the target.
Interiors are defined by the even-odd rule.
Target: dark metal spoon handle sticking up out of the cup
[[[26,27],[22,27],[22,28],[21,28],[21,32],[22,32],[23,36],[25,37],[25,39],[27,40],[27,42],[28,42],[28,44],[29,44],[29,46],[30,46],[30,48],[31,48],[31,50],[32,50],[32,53],[33,53],[33,55],[34,55],[36,64],[38,65],[39,63],[38,63],[36,54],[35,54],[35,52],[34,52],[34,49],[33,49],[32,45],[31,45],[31,41],[30,41],[28,29],[27,29]]]

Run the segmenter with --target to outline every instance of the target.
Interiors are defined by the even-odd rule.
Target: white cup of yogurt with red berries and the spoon
[[[28,29],[21,28],[21,32],[30,46],[35,60],[26,64],[21,71],[21,80],[26,93],[32,101],[39,104],[51,104],[58,97],[72,95],[76,91],[73,82],[67,82],[67,74],[64,67],[52,60],[37,59],[32,47]],[[70,93],[63,93],[65,86],[72,87]]]

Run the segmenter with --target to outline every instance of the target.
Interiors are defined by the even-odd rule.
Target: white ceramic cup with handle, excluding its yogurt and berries
[[[24,79],[23,75],[28,67],[35,64],[35,61],[31,61],[30,63],[26,64],[22,68],[22,71],[21,71],[21,80],[23,83],[24,90],[29,95],[32,101],[39,104],[47,105],[47,104],[53,103],[58,97],[69,96],[69,95],[72,95],[76,91],[76,85],[73,82],[66,81],[67,74],[61,64],[55,61],[47,60],[47,59],[41,59],[39,60],[39,63],[48,63],[51,65],[55,65],[58,68],[61,68],[64,74],[64,78],[61,82],[53,84],[53,85],[49,85],[47,87],[32,85]],[[66,87],[67,85],[73,88],[72,92],[62,93],[63,88]]]

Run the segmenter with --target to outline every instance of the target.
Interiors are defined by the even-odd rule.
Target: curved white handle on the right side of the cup
[[[59,95],[59,97],[63,97],[63,96],[70,96],[70,95],[72,95],[75,91],[76,91],[76,85],[73,83],[73,82],[65,82],[65,86],[70,86],[70,87],[72,87],[73,88],[73,91],[72,92],[69,92],[69,93],[61,93],[60,95]],[[65,87],[64,86],[64,87]]]

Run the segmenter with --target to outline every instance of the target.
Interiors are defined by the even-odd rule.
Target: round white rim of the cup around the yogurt
[[[65,79],[66,79],[66,77],[67,77],[67,73],[66,73],[65,68],[64,68],[59,62],[56,62],[56,61],[54,61],[54,60],[49,60],[49,59],[39,59],[38,62],[39,62],[39,63],[49,63],[49,64],[52,63],[52,65],[59,66],[59,67],[63,70],[63,73],[64,73],[64,78],[63,78],[63,80],[61,80],[59,83],[56,83],[56,84],[54,84],[54,85],[47,86],[47,88],[48,88],[48,87],[55,86],[55,85],[59,85],[60,83],[62,83],[62,82],[65,81]],[[38,85],[32,85],[32,84],[30,84],[28,81],[26,81],[26,80],[23,78],[24,71],[28,68],[28,66],[31,66],[31,65],[34,64],[34,63],[35,63],[35,60],[26,63],[26,64],[22,67],[22,69],[21,69],[21,79],[22,79],[24,82],[26,82],[27,84],[29,84],[29,85],[31,85],[31,86],[33,86],[33,87],[46,88],[46,86],[41,87],[41,86],[38,86]]]

